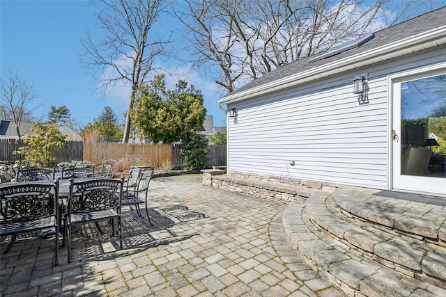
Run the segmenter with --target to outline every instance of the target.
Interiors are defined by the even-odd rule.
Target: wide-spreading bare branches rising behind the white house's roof
[[[280,65],[438,6],[435,0],[395,2],[401,1],[187,0],[176,15],[190,33],[194,67],[217,66],[216,83],[231,93]]]

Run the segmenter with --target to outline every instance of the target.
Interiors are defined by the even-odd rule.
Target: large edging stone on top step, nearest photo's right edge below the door
[[[438,238],[438,230],[444,218],[439,216],[401,216],[395,219],[395,227],[399,230],[415,233],[431,239]]]

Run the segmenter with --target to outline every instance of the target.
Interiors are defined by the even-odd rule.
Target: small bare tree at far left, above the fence
[[[6,115],[15,123],[17,136],[22,136],[27,131],[21,131],[22,122],[34,122],[38,118],[33,116],[33,112],[43,106],[44,102],[37,102],[38,93],[33,87],[33,83],[19,77],[17,72],[8,70],[6,78],[0,77],[1,104]],[[41,119],[42,117],[40,117]]]

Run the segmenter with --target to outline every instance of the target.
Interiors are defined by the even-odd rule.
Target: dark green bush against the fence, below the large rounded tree
[[[202,134],[188,134],[181,140],[180,156],[185,170],[208,168],[208,138]]]

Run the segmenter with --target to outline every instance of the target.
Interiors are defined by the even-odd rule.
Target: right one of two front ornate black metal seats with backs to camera
[[[72,225],[93,221],[100,227],[98,220],[112,220],[112,236],[115,234],[114,218],[117,218],[120,247],[123,248],[121,231],[121,203],[123,198],[123,178],[95,178],[77,181],[70,179],[68,214],[64,218],[64,234],[68,238],[68,263],[72,261]]]

